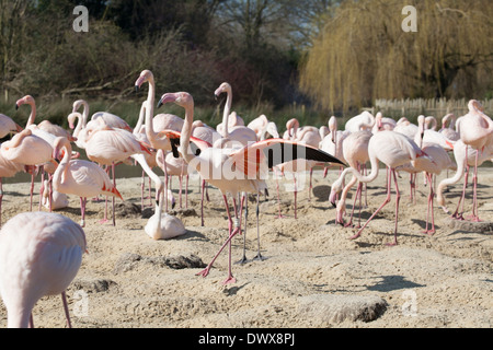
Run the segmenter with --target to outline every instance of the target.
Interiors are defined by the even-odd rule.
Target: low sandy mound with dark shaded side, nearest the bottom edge
[[[313,294],[300,298],[299,313],[329,324],[344,320],[371,322],[383,314],[387,305],[383,299],[372,295]]]

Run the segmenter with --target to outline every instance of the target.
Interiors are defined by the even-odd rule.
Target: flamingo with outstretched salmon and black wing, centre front
[[[282,139],[268,139],[259,141],[242,149],[221,149],[209,147],[207,149],[204,149],[198,155],[196,155],[188,151],[194,117],[194,102],[192,95],[186,92],[167,93],[160,100],[160,104],[165,103],[175,103],[185,109],[185,122],[181,131],[179,152],[192,168],[195,168],[204,179],[206,179],[210,185],[217,187],[221,191],[226,211],[228,214],[228,240],[221,246],[209,265],[197,275],[206,277],[209,273],[209,270],[216,258],[219,256],[226,245],[229,244],[228,277],[223,283],[234,282],[236,279],[231,272],[230,243],[234,235],[241,231],[241,221],[238,218],[238,210],[236,205],[236,197],[238,196],[238,194],[256,192],[259,196],[259,192],[266,188],[266,183],[263,178],[265,170],[274,166],[276,163],[283,163],[289,158],[293,159],[306,156],[319,162],[341,162],[332,155],[326,154],[325,152],[318,149],[312,149],[307,145],[301,145],[296,142],[290,142]],[[278,147],[277,150],[275,150],[276,147]],[[287,149],[289,148],[296,151],[295,154],[294,152],[287,151]],[[278,153],[275,153],[275,151],[278,151]],[[267,156],[265,156],[264,153]],[[268,164],[265,164],[266,159],[268,161]],[[230,194],[233,198],[233,209],[236,218],[234,229],[233,221],[231,220],[231,214],[229,211],[227,194]],[[242,196],[240,210],[243,207],[244,200],[245,196]]]

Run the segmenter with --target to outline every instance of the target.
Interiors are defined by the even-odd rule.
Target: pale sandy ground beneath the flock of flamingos
[[[294,218],[293,192],[280,180],[282,210],[276,219],[275,182],[270,182],[270,199],[261,198],[261,250],[266,258],[252,261],[256,254],[255,200],[249,203],[246,257],[233,265],[236,283],[223,285],[228,254],[217,259],[210,275],[196,276],[199,267],[173,268],[167,258],[183,256],[208,264],[228,235],[226,212],[219,191],[209,188],[205,205],[205,226],[199,215],[184,217],[187,233],[173,240],[153,241],[144,231],[147,219],[139,214],[116,219],[116,226],[101,224],[104,202],[88,203],[84,229],[89,254],[67,291],[77,328],[115,327],[481,327],[493,324],[493,240],[491,228],[459,226],[435,209],[437,232],[422,233],[425,225],[428,188],[420,176],[416,203],[409,200],[409,175],[402,174],[399,212],[399,245],[392,241],[394,199],[376,217],[357,240],[356,229],[334,224],[335,209],[328,202],[336,170],[322,178],[317,171],[311,201],[308,188],[299,192],[298,219]],[[446,174],[438,177],[444,178]],[[451,174],[450,174],[451,176]],[[493,173],[480,170],[479,214],[493,221]],[[126,202],[140,207],[140,178],[118,179]],[[385,172],[369,184],[368,207],[362,223],[385,198]],[[198,179],[190,180],[188,207],[199,214]],[[177,180],[174,180],[177,199]],[[3,185],[2,220],[28,211],[28,184]],[[38,185],[36,185],[36,189]],[[455,210],[462,182],[446,194]],[[37,209],[38,197],[35,196]],[[184,199],[183,199],[184,200]],[[117,203],[121,203],[118,200]],[[353,199],[347,201],[351,212]],[[470,213],[468,190],[466,213]],[[46,209],[43,209],[46,210]],[[76,222],[80,219],[79,198],[70,197],[68,208],[59,210]],[[484,226],[484,223],[483,223]],[[484,232],[482,232],[484,231]],[[243,236],[232,244],[232,259],[242,256]],[[133,259],[128,260],[128,257]],[[125,260],[127,258],[127,260]],[[376,298],[385,307],[378,315],[358,319],[329,314],[332,298]],[[334,300],[335,303],[335,300]],[[320,306],[320,307],[319,307]],[[323,307],[322,307],[323,306]],[[36,327],[65,327],[60,298],[47,296],[35,306]],[[7,313],[0,306],[0,326]]]

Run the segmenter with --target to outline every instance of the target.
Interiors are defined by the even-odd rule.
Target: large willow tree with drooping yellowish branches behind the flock
[[[413,20],[408,5],[416,10],[415,32],[403,30]],[[345,1],[303,59],[301,90],[330,109],[375,98],[473,97],[493,88],[492,19],[491,0]]]

